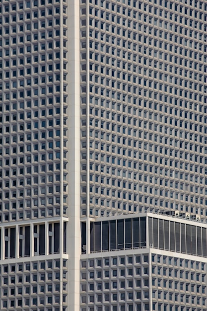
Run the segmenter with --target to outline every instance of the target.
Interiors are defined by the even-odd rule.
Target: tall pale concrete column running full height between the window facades
[[[79,85],[79,1],[68,0],[68,84],[69,84],[69,310],[79,311],[80,278],[80,85]]]

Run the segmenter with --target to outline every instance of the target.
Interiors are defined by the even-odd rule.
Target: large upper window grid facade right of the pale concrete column
[[[81,11],[89,213],[165,209],[205,218],[207,7],[201,1],[125,2],[90,1],[84,22],[84,6]],[[85,136],[83,128],[82,159]]]

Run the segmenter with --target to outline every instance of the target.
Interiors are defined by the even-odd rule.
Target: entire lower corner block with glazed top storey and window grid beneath
[[[143,213],[85,228],[81,311],[207,311],[207,224]]]

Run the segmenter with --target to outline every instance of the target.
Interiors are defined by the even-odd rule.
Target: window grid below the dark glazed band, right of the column
[[[149,284],[154,311],[206,310],[206,264],[153,253],[82,258],[81,311],[150,310]]]

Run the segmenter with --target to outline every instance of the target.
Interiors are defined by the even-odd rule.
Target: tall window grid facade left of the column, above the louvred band
[[[66,8],[65,5],[65,13]],[[58,216],[62,122],[60,3],[9,1],[2,3],[1,13],[1,222]],[[66,46],[66,30],[64,34]],[[65,91],[66,79],[64,74]],[[64,95],[64,102],[66,98]],[[67,108],[63,110],[63,123],[67,125]],[[67,129],[64,139],[66,147]],[[67,151],[64,157],[67,170]],[[67,176],[66,171],[64,214]]]

